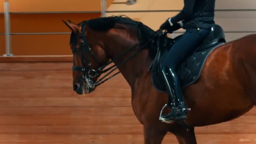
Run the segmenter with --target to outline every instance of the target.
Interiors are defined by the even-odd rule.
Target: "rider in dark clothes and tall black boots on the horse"
[[[168,85],[169,101],[173,101],[168,101],[172,111],[161,116],[163,122],[187,118],[187,106],[184,104],[176,69],[195,51],[215,25],[214,8],[215,0],[184,0],[183,9],[160,26],[160,29],[165,29],[168,33],[180,28],[186,29],[180,39],[173,44],[161,65],[163,77]]]

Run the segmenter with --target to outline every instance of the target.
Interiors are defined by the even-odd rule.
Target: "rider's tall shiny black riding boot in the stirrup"
[[[184,104],[183,95],[179,84],[179,77],[173,69],[168,67],[163,68],[162,72],[169,89],[169,95],[171,95],[172,99],[174,99],[172,100],[174,104],[171,104],[171,112],[167,115],[162,115],[161,118],[167,119],[169,121],[174,119],[182,120],[187,118],[187,107]]]

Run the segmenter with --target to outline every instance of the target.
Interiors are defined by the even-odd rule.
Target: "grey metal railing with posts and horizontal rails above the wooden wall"
[[[129,1],[129,0],[128,0]],[[130,0],[135,2],[136,0]],[[130,3],[131,3],[130,2]],[[127,2],[128,3],[128,2]],[[124,4],[127,4],[124,3]],[[127,4],[128,5],[128,4]],[[5,35],[5,54],[3,56],[13,56],[11,48],[11,35],[59,35],[59,34],[70,34],[70,32],[31,32],[31,33],[11,33],[10,28],[10,14],[24,14],[24,13],[101,13],[102,17],[107,16],[107,13],[148,13],[148,12],[179,12],[181,10],[142,10],[142,11],[107,11],[107,0],[101,0],[101,11],[50,11],[50,12],[10,12],[9,2],[5,0],[4,2],[4,17],[5,17],[5,33],[0,35]],[[256,11],[256,9],[216,9],[215,11]],[[245,31],[225,31],[226,33],[239,33]],[[246,31],[247,32],[247,31]],[[254,31],[248,31],[254,32]],[[174,33],[183,33],[183,31],[177,31]]]

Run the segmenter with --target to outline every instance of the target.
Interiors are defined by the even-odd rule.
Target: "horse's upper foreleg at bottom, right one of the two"
[[[179,144],[197,144],[195,137],[195,128],[176,128],[173,131],[173,128],[170,128],[170,132],[173,133]]]

